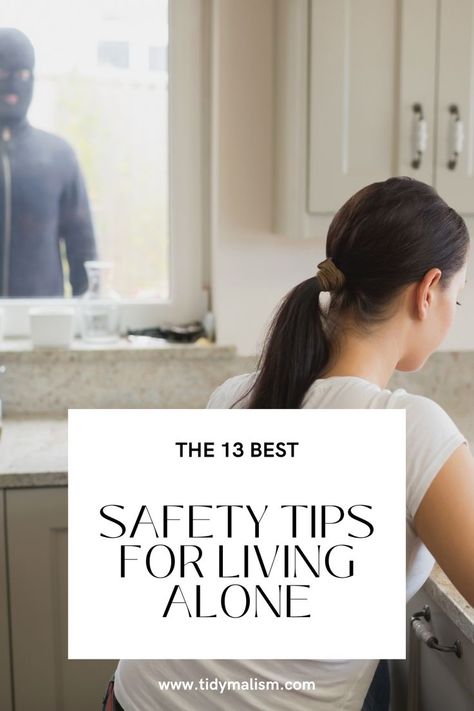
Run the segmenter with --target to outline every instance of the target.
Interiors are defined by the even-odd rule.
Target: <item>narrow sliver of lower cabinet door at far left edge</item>
[[[10,624],[5,540],[5,492],[0,489],[0,709],[12,711]]]

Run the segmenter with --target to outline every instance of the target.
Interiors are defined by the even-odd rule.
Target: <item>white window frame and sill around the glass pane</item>
[[[210,115],[208,0],[169,0],[169,298],[122,299],[122,332],[201,320],[209,299]],[[73,306],[79,298],[0,299],[5,336],[30,335],[29,308]]]

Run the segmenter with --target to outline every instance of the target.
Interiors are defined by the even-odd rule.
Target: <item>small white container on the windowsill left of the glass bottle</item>
[[[74,309],[69,306],[35,306],[30,316],[34,348],[69,348],[74,336]]]

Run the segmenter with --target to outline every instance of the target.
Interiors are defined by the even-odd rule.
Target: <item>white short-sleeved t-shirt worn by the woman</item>
[[[226,380],[208,407],[227,409],[244,395],[256,373]],[[246,407],[248,398],[237,407]],[[406,409],[406,590],[407,600],[420,589],[433,557],[417,537],[413,517],[443,464],[466,438],[433,400],[404,389],[382,390],[356,376],[316,380],[303,400],[305,408]],[[378,660],[121,660],[115,693],[125,711],[360,711]],[[315,681],[315,690],[159,691],[158,682],[200,679],[258,682]],[[253,682],[251,681],[253,680]],[[248,687],[247,687],[248,688]],[[261,689],[262,687],[260,687]]]

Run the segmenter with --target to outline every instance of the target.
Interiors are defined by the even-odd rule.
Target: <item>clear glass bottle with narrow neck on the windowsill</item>
[[[113,263],[84,262],[88,289],[80,300],[81,334],[86,343],[112,343],[120,336],[120,297],[112,289]]]

